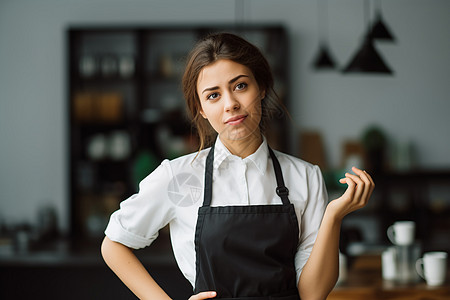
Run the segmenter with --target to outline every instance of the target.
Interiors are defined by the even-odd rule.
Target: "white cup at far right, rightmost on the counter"
[[[446,252],[427,252],[416,261],[416,270],[429,286],[439,286],[447,272]]]

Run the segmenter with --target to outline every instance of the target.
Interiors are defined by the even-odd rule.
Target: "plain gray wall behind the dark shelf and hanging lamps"
[[[253,0],[245,22],[281,22],[290,32],[293,126],[320,130],[332,166],[343,139],[370,124],[411,140],[419,166],[450,167],[450,1],[383,1],[397,44],[378,44],[395,76],[315,73],[317,5]],[[330,45],[345,64],[359,46],[363,1],[329,1]],[[233,22],[231,0],[0,0],[0,218],[34,222],[54,205],[68,227],[65,29],[70,24]],[[292,137],[296,145],[296,137]]]

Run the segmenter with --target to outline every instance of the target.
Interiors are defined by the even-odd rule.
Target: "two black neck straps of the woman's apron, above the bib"
[[[205,189],[204,189],[204,196],[203,196],[203,206],[210,206],[211,205],[211,199],[212,199],[212,179],[213,179],[213,167],[214,167],[214,147],[215,145],[211,146],[211,149],[209,150],[208,156],[206,157],[206,166],[205,166]],[[277,188],[276,192],[277,195],[281,198],[281,201],[284,205],[289,205],[290,201],[288,198],[289,190],[284,185],[283,180],[283,173],[281,172],[280,163],[278,162],[277,157],[275,156],[275,153],[273,153],[272,149],[269,148],[269,154],[272,158],[272,164],[273,169],[275,170],[275,177],[277,180]]]

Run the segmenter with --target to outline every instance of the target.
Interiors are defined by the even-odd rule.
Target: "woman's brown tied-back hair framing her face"
[[[280,111],[278,96],[269,63],[257,47],[231,33],[216,33],[199,41],[190,52],[183,75],[183,94],[192,122],[200,138],[199,150],[209,146],[216,132],[201,114],[200,99],[197,94],[197,80],[201,70],[220,59],[232,60],[249,68],[261,90],[265,91],[262,101],[260,130],[271,119],[275,111]]]

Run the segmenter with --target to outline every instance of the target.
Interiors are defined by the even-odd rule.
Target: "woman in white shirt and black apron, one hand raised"
[[[262,132],[273,109],[272,74],[238,36],[210,35],[195,46],[183,92],[200,151],[163,161],[121,203],[102,244],[108,266],[139,298],[169,299],[131,249],[170,224],[191,300],[325,299],[338,277],[341,221],[367,203],[371,177],[353,168],[340,180],[345,193],[327,204],[317,166],[270,149]],[[176,198],[181,181],[203,199]]]

